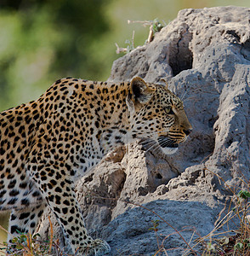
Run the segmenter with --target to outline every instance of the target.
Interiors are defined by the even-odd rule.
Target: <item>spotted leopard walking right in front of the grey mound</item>
[[[104,255],[88,235],[75,185],[117,147],[144,139],[174,154],[192,131],[184,104],[162,83],[59,79],[36,101],[0,113],[0,211],[8,243],[33,234],[49,207],[76,255]],[[75,254],[74,254],[75,255]]]

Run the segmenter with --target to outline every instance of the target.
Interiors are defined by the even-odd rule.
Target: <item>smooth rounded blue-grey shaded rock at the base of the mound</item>
[[[207,212],[205,216],[204,212]],[[181,255],[189,249],[182,237],[193,241],[206,236],[213,230],[215,217],[215,212],[200,202],[156,200],[117,216],[102,235],[111,245],[111,255],[154,255],[162,245],[168,255]],[[188,225],[176,219],[185,219]],[[200,224],[199,231],[197,224]],[[177,248],[174,253],[172,248]]]

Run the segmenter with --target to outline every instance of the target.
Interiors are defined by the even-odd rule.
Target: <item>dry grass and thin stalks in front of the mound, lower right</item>
[[[173,228],[173,233],[161,238],[158,236],[158,226],[159,221],[152,221],[152,227],[156,234],[156,241],[158,245],[158,250],[154,254],[156,255],[168,255],[168,252],[172,250],[182,250],[183,256],[187,255],[202,255],[202,256],[247,256],[250,255],[250,209],[249,209],[249,190],[240,190],[238,194],[233,196],[236,198],[236,202],[230,201],[229,207],[225,205],[224,209],[219,213],[219,218],[215,223],[214,229],[207,234],[207,236],[199,237],[198,239],[193,239],[194,235],[199,236],[196,229],[193,229],[193,234],[190,241],[185,241],[184,236],[181,236],[183,231],[188,230],[175,230]],[[233,207],[234,206],[234,207]],[[144,207],[145,208],[145,207]],[[151,211],[151,210],[149,210]],[[151,211],[152,212],[152,211]],[[222,213],[227,212],[222,218]],[[157,216],[157,214],[156,214]],[[157,216],[159,217],[159,216]],[[220,219],[221,218],[221,219]],[[229,226],[238,223],[235,230],[230,230]],[[220,231],[222,228],[226,228],[226,231]],[[191,231],[191,230],[190,230]],[[164,246],[164,241],[169,237],[178,234],[180,239],[185,241],[187,247],[175,247],[167,248]],[[202,248],[202,250],[201,250]],[[180,255],[180,254],[179,254]]]

